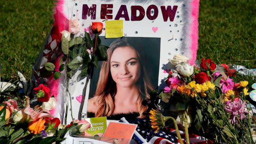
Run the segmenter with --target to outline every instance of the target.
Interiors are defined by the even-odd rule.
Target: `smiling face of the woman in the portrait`
[[[128,46],[116,48],[110,59],[110,72],[118,86],[134,86],[140,77],[140,63],[136,51]]]

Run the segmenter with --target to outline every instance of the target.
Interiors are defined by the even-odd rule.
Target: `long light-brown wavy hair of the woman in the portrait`
[[[98,103],[98,109],[95,112],[95,117],[101,116],[110,116],[112,115],[115,105],[114,105],[114,97],[117,92],[115,81],[112,79],[110,73],[110,59],[112,53],[116,48],[129,46],[133,48],[132,45],[127,43],[125,38],[115,40],[107,50],[108,60],[104,61],[101,70],[99,73],[99,81],[97,84],[97,89],[95,96],[97,96],[96,102]],[[135,48],[133,48],[135,50]],[[136,50],[135,50],[136,51]],[[139,63],[141,66],[141,75],[139,80],[137,81],[137,85],[139,88],[139,98],[136,101],[137,107],[139,108],[139,117],[143,117],[143,112],[147,110],[147,107],[143,106],[141,102],[145,99],[149,99],[149,91],[153,90],[153,87],[150,83],[149,77],[147,75],[147,69],[145,68],[144,61],[141,61],[141,55],[136,51],[139,57]]]

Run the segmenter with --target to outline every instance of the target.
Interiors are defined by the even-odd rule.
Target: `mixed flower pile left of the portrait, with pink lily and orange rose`
[[[19,74],[22,76],[22,74]],[[23,81],[24,80],[24,77]],[[22,81],[22,80],[21,80]],[[56,99],[50,96],[47,86],[40,84],[34,88],[36,97],[30,101],[24,96],[24,86],[11,85],[9,96],[0,95],[0,142],[4,144],[52,144],[61,142],[71,128],[83,135],[90,123],[74,120],[69,125],[62,125],[59,118],[50,114],[56,105]],[[24,83],[26,84],[26,83]],[[16,96],[14,93],[17,93]]]

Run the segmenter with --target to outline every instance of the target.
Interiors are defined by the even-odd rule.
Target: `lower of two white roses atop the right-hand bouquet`
[[[194,66],[192,66],[188,63],[182,63],[182,64],[178,64],[176,66],[176,70],[177,70],[177,72],[179,72],[184,77],[188,77],[188,76],[193,74]]]

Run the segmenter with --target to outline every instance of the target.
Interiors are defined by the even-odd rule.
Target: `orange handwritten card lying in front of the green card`
[[[103,137],[130,140],[137,125],[110,122]]]

